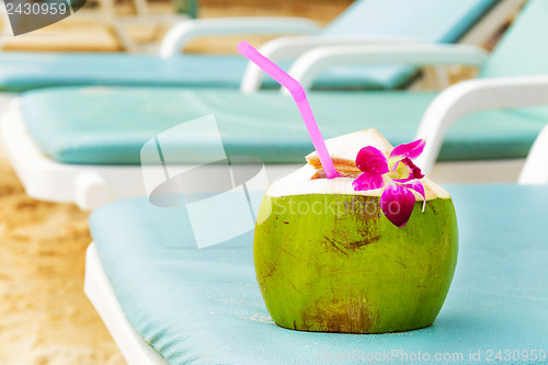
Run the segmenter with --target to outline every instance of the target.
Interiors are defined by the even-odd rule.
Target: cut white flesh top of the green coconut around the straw
[[[380,196],[383,189],[356,192],[352,186],[354,179],[362,173],[355,166],[357,152],[362,148],[373,146],[387,156],[393,148],[377,130],[365,129],[351,133],[328,139],[326,140],[326,145],[341,178],[322,178],[324,173],[321,168],[320,159],[315,151],[306,157],[308,164],[272,184],[266,193],[270,196],[306,194]],[[424,178],[422,182],[424,184],[426,201],[438,197],[450,197],[444,189],[429,179]],[[416,201],[423,201],[420,194],[413,193],[415,194]]]

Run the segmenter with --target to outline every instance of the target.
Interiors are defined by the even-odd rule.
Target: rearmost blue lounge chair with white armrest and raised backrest
[[[500,4],[498,4],[500,2]],[[239,55],[191,55],[181,50],[192,38],[231,34],[310,34],[275,43],[276,53],[294,58],[321,44],[410,38],[454,43],[463,37],[481,42],[493,34],[523,0],[359,0],[324,28],[297,18],[198,19],[174,26],[160,55],[36,54],[0,55],[0,90],[20,92],[54,85],[123,84],[238,88],[246,69]],[[495,7],[496,5],[496,7]],[[494,7],[494,9],[493,9]],[[493,10],[491,12],[491,10]],[[484,16],[487,15],[487,16]],[[480,21],[481,20],[481,21]],[[477,31],[476,31],[477,30]],[[468,34],[468,36],[467,36]],[[319,87],[392,89],[410,82],[414,69],[406,66],[333,69]],[[344,77],[346,75],[346,77]],[[349,77],[350,76],[350,77]]]

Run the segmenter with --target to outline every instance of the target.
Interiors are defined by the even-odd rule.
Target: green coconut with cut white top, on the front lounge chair
[[[383,333],[427,327],[449,290],[458,252],[450,196],[423,180],[410,220],[392,225],[381,190],[355,192],[354,159],[391,146],[373,129],[327,141],[346,175],[322,179],[316,153],[266,191],[254,236],[256,280],[272,319],[302,331]]]

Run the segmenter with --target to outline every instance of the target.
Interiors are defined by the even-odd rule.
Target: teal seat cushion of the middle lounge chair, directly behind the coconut
[[[326,138],[377,128],[392,145],[410,141],[433,93],[313,92],[310,103]],[[290,98],[274,91],[242,95],[232,90],[57,89],[22,96],[31,135],[65,163],[139,164],[140,149],[157,134],[214,114],[228,155],[267,163],[304,162],[310,138]],[[88,112],[90,111],[90,112]],[[101,117],[93,111],[101,111]],[[442,160],[522,158],[546,117],[520,111],[469,115],[449,132]],[[210,150],[194,134],[174,140],[172,163],[195,163]]]

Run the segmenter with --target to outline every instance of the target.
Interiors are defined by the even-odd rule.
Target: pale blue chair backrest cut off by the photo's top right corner
[[[528,0],[493,49],[481,77],[548,75],[548,1]]]

